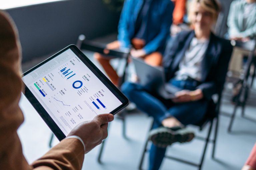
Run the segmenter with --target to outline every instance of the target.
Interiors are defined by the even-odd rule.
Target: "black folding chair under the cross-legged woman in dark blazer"
[[[206,149],[207,149],[209,141],[213,142],[212,158],[215,158],[215,147],[216,147],[217,133],[218,133],[219,110],[220,110],[220,104],[221,104],[221,93],[218,94],[217,100],[215,100],[215,101],[216,102],[214,102],[212,100],[210,102],[210,105],[207,109],[207,113],[205,114],[205,117],[203,118],[203,120],[201,122],[199,122],[198,124],[194,125],[194,126],[198,127],[199,130],[201,131],[202,129],[204,129],[206,127],[207,124],[209,124],[209,129],[208,129],[208,133],[207,133],[206,137],[202,137],[202,136],[196,136],[195,137],[196,139],[200,139],[200,140],[205,141],[204,148],[203,148],[203,153],[202,153],[201,158],[200,158],[200,162],[199,163],[194,163],[194,162],[191,162],[191,161],[188,161],[188,160],[176,158],[176,157],[169,156],[169,155],[165,155],[165,158],[176,160],[176,161],[179,161],[181,163],[185,163],[185,164],[189,164],[189,165],[198,167],[198,169],[200,170],[202,168],[202,164],[203,164],[203,161],[204,161],[204,158],[205,158],[205,153],[206,153]],[[211,134],[211,131],[212,131],[214,121],[215,121],[214,138],[212,140],[210,140],[210,134]],[[152,126],[153,126],[153,124],[152,124]],[[150,130],[152,129],[152,126],[151,126]],[[147,149],[148,142],[149,142],[149,140],[147,139],[147,141],[145,143],[145,146],[144,146],[143,154],[141,156],[141,160],[140,160],[140,164],[139,164],[139,170],[142,170],[142,165],[143,165],[145,153],[148,151],[148,149]]]

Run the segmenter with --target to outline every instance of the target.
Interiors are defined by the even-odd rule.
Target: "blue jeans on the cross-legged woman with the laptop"
[[[186,90],[195,90],[198,82],[193,80],[171,79],[172,85]],[[208,102],[199,100],[186,103],[173,103],[158,95],[146,91],[145,88],[136,83],[126,82],[122,85],[122,92],[134,102],[137,108],[154,118],[153,128],[162,126],[161,122],[168,117],[175,117],[183,125],[196,124],[200,122],[206,113]],[[158,170],[165,155],[166,148],[157,147],[152,144],[149,158],[149,170]]]

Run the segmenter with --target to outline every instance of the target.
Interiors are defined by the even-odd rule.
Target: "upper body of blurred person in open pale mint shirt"
[[[256,0],[235,0],[228,14],[228,37],[248,41],[256,37]]]

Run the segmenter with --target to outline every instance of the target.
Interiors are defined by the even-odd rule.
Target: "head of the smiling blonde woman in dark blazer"
[[[189,21],[195,30],[210,31],[220,12],[217,0],[192,0],[189,5]]]

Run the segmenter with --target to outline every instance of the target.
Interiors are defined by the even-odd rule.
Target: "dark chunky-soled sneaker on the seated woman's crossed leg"
[[[160,127],[149,132],[149,139],[158,147],[167,147],[174,142],[189,142],[194,137],[195,134],[186,128],[174,131],[171,128]]]

